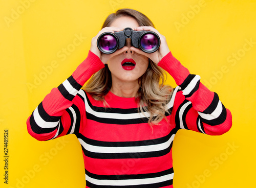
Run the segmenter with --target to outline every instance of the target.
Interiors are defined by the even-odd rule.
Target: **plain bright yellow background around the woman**
[[[26,120],[87,57],[103,20],[120,8],[147,15],[173,55],[232,112],[232,128],[224,135],[178,132],[174,187],[254,186],[256,1],[1,0],[0,7],[1,187],[84,187],[76,137],[39,142],[27,133]],[[77,36],[80,43],[74,45]],[[170,77],[167,83],[175,86]]]

